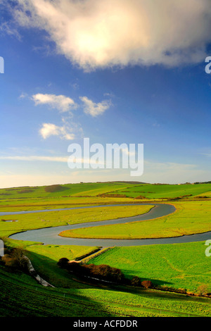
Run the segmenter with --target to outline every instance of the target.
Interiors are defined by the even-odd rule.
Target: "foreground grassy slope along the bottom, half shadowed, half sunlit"
[[[1,317],[211,316],[207,298],[80,283],[77,288],[45,288],[32,277],[8,273],[2,266],[0,286]]]

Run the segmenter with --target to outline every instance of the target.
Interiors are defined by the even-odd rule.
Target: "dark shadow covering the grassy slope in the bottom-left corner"
[[[23,277],[27,282],[22,282],[20,271],[15,272],[1,263],[0,286],[2,270],[6,274],[2,282],[4,289],[0,292],[1,305],[4,306],[3,316],[85,318],[115,316],[109,304],[101,304],[95,301],[89,292],[86,296],[84,292],[79,291],[96,287],[75,282],[67,270],[60,269],[57,262],[49,257],[30,251],[24,253],[30,258],[37,273],[54,287],[44,287],[37,282],[34,285],[34,279],[30,275]],[[117,316],[120,316],[120,313],[117,313]]]

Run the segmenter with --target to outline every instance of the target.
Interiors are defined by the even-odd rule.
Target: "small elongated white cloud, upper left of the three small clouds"
[[[70,111],[70,109],[77,107],[75,101],[64,95],[38,93],[32,96],[32,100],[36,106],[46,104],[51,106],[51,108],[58,109],[58,111],[61,112]]]

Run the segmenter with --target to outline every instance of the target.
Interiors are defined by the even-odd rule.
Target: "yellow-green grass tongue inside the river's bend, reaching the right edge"
[[[153,220],[66,230],[64,237],[145,239],[179,237],[211,230],[211,201],[174,202],[177,211]]]

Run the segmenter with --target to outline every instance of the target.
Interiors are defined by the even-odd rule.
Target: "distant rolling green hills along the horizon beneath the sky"
[[[48,187],[47,187],[48,188]],[[148,199],[201,199],[211,196],[211,184],[151,185],[132,183],[80,183],[60,185],[56,192],[46,187],[14,187],[0,189],[0,211],[22,211],[91,204],[117,204],[147,201]],[[140,199],[134,199],[140,197]]]

